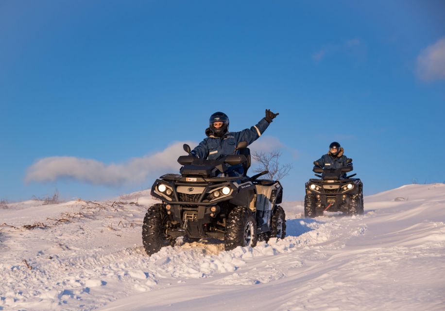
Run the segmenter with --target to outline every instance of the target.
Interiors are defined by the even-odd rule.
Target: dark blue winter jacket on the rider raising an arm
[[[240,132],[228,132],[223,137],[212,136],[210,129],[207,128],[205,130],[207,138],[204,138],[204,140],[191,151],[191,154],[200,159],[208,158],[210,160],[219,159],[224,155],[232,155],[240,141],[247,141],[247,144],[250,145],[264,133],[268,126],[269,122],[263,118],[257,125],[252,126],[250,129],[245,129]],[[238,150],[235,154],[239,154]]]

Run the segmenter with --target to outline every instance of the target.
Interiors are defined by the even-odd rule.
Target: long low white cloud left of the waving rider
[[[178,172],[176,161],[186,155],[184,143],[195,146],[195,142],[174,142],[161,152],[137,157],[122,164],[104,164],[93,159],[74,156],[51,156],[38,160],[28,168],[26,182],[47,182],[60,178],[72,178],[94,185],[120,186],[143,182],[151,173]]]

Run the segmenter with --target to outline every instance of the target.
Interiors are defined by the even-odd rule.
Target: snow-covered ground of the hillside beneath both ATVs
[[[0,209],[0,310],[445,310],[445,184],[365,197],[358,217],[304,219],[287,202],[284,240],[152,257],[153,200],[125,199]]]

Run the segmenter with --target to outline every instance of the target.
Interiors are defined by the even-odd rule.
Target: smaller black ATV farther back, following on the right
[[[347,159],[351,163],[352,159]],[[346,176],[352,167],[342,169],[322,169],[314,162],[315,176],[305,184],[305,217],[323,215],[325,211],[342,211],[350,215],[363,214],[363,184],[356,174]],[[344,178],[343,178],[344,177]]]

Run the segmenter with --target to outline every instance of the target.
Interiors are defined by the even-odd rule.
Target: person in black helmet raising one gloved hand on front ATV
[[[209,127],[205,130],[203,141],[199,143],[192,151],[191,155],[200,159],[216,160],[225,155],[233,155],[237,144],[240,141],[247,141],[250,145],[257,140],[272,120],[278,115],[269,109],[266,109],[266,116],[261,119],[257,125],[250,129],[245,129],[240,132],[229,132],[229,117],[223,112],[215,112],[210,116]],[[239,154],[237,151],[236,154]],[[234,165],[230,167],[226,173],[230,175],[242,175],[243,170],[241,165]]]

